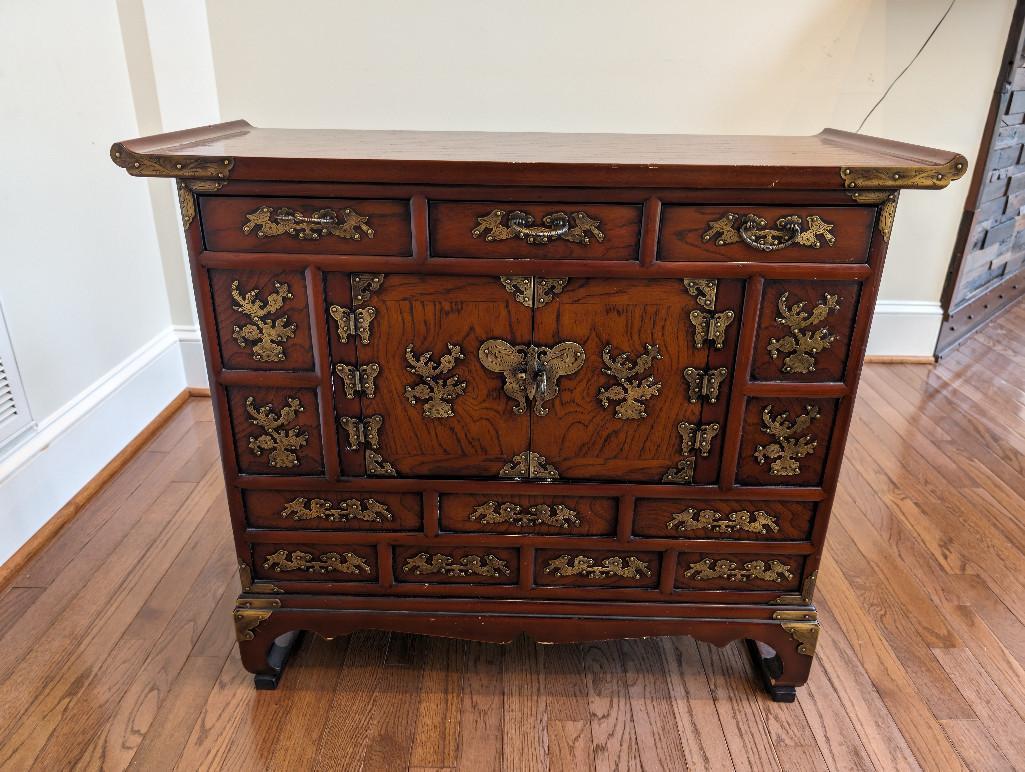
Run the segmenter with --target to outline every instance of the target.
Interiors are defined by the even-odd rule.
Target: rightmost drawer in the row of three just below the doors
[[[652,538],[799,541],[812,531],[809,501],[639,498],[633,533]]]

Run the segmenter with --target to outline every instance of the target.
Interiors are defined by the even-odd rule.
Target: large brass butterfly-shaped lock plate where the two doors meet
[[[481,344],[478,356],[485,368],[505,376],[505,394],[517,403],[512,412],[522,415],[529,401],[541,416],[548,414],[544,403],[559,395],[558,379],[575,373],[585,359],[583,348],[572,340],[548,348],[492,338]]]

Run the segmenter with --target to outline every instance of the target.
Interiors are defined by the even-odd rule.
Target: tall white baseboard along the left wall
[[[39,421],[0,458],[0,563],[184,389],[181,346],[168,328]]]

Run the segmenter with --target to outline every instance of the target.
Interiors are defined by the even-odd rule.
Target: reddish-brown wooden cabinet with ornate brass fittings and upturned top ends
[[[244,121],[111,154],[177,179],[257,686],[298,631],[690,635],[793,699],[898,191],[961,156]]]

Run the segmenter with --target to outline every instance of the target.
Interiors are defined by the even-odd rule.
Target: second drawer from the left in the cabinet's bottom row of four
[[[396,581],[421,584],[516,584],[520,552],[490,546],[397,546]]]

